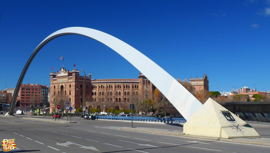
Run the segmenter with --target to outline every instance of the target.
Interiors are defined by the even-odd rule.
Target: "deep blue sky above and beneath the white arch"
[[[133,46],[174,78],[209,77],[210,91],[268,91],[270,1],[0,1],[0,90],[15,87],[32,52],[51,33],[81,26]],[[66,35],[45,45],[23,84],[50,85],[64,66],[92,79],[134,79],[139,70],[109,47]],[[139,59],[138,59],[139,60]],[[81,73],[82,74],[82,73]]]

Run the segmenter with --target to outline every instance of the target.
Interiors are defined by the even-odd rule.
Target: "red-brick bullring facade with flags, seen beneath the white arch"
[[[130,104],[132,94],[142,99],[152,99],[155,87],[140,73],[139,79],[92,79],[92,74],[80,75],[78,69],[72,71],[64,67],[50,74],[50,112],[54,110],[54,101],[58,95],[67,95],[71,107],[99,108],[103,106],[121,109]],[[84,91],[85,90],[85,91]],[[84,99],[83,99],[84,98]]]

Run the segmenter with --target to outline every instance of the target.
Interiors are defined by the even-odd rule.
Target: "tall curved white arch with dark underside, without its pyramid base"
[[[24,75],[33,58],[39,52],[39,50],[44,45],[46,45],[46,43],[56,37],[72,34],[83,35],[95,39],[123,56],[141,73],[143,73],[144,76],[146,76],[158,88],[158,90],[161,91],[161,93],[163,93],[163,95],[173,104],[173,106],[183,115],[186,120],[188,120],[192,114],[202,106],[200,101],[197,100],[197,98],[195,98],[187,89],[185,89],[172,76],[170,76],[170,74],[164,71],[160,66],[143,55],[141,52],[123,42],[122,40],[119,40],[107,33],[84,27],[70,27],[61,29],[45,38],[38,45],[26,63],[17,83],[16,89],[18,90],[21,86]],[[17,91],[16,89],[14,95],[18,95],[19,90]],[[16,99],[13,98],[13,104],[11,104],[12,107],[10,108],[10,112],[13,112],[15,107]]]

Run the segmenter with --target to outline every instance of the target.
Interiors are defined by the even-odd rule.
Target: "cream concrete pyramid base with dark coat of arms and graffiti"
[[[217,138],[258,138],[258,132],[209,98],[184,124],[184,134]]]

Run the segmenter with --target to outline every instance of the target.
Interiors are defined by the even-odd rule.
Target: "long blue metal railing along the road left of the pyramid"
[[[131,121],[130,116],[96,116],[97,119],[105,120],[126,120]],[[184,118],[163,118],[163,117],[136,117],[133,116],[133,121],[146,121],[146,122],[164,122],[164,123],[185,123]]]

